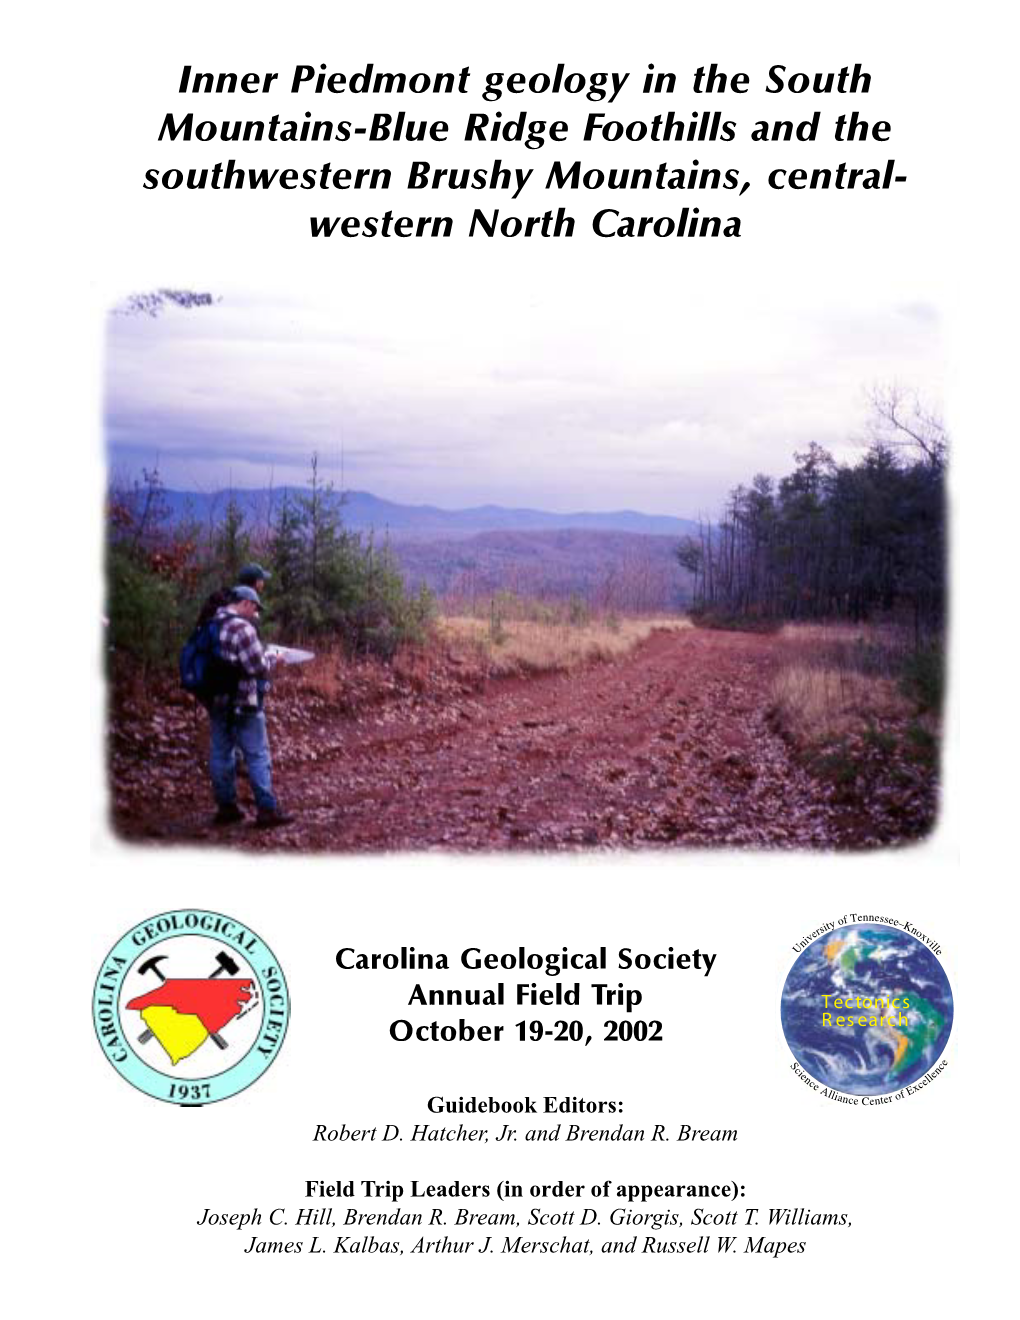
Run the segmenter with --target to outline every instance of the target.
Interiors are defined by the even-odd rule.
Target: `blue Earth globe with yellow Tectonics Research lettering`
[[[793,964],[781,1020],[815,1081],[852,1096],[887,1094],[924,1077],[946,1048],[953,991],[938,958],[912,935],[845,925]]]

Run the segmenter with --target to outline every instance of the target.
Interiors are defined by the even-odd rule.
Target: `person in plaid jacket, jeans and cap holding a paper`
[[[265,693],[272,665],[255,627],[260,607],[259,593],[240,583],[231,589],[230,602],[214,615],[219,624],[218,659],[235,680],[230,690],[216,694],[208,705],[208,770],[216,800],[216,825],[234,825],[244,820],[244,812],[238,805],[236,751],[244,756],[255,793],[255,824],[273,828],[288,825],[294,818],[281,810],[273,793],[269,734],[265,726]]]

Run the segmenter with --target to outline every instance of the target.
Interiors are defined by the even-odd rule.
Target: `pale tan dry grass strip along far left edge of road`
[[[497,628],[484,619],[464,615],[439,620],[439,634],[451,647],[480,651],[488,672],[496,677],[515,673],[566,672],[625,655],[657,628],[689,628],[690,620],[676,616],[649,619],[592,619],[587,623],[500,620]]]

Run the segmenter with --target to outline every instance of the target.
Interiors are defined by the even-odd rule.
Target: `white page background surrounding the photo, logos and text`
[[[21,172],[7,203],[16,228],[7,247],[13,282],[5,318],[15,388],[5,535],[15,780],[8,886],[16,936],[7,1061],[17,1100],[7,1210],[16,1302],[42,1315],[144,1305],[162,1317],[226,1302],[269,1312],[329,1305],[508,1316],[570,1308],[608,1316],[680,1305],[775,1313],[856,1296],[868,1305],[955,1315],[994,1287],[1003,1265],[998,1177],[1011,1137],[1012,1026],[998,997],[1015,917],[1007,873],[1015,870],[1008,840],[1016,772],[1007,748],[1015,668],[1008,639],[1016,628],[1012,609],[1003,616],[996,583],[1003,562],[996,536],[1009,525],[996,487],[1008,494],[1000,478],[1015,470],[1012,412],[996,396],[1013,370],[1015,257],[1005,240],[1009,213],[995,210],[1007,199],[1004,185],[988,173],[1007,160],[994,115],[1002,34],[982,22],[990,13],[982,5],[961,13],[913,4],[893,13],[871,4],[727,5],[711,13],[643,4],[393,4],[371,12],[300,4],[181,4],[156,12],[110,4],[94,12],[53,7],[20,20],[5,96],[8,169]],[[381,205],[371,194],[347,194],[354,201],[344,207],[325,194],[323,205],[311,207],[303,194],[143,193],[149,164],[185,164],[185,154],[190,164],[198,154],[154,143],[182,65],[286,70],[319,59],[336,69],[375,59],[389,69],[470,63],[476,70],[540,70],[562,59],[633,77],[649,59],[677,73],[717,59],[752,74],[773,62],[823,70],[859,59],[874,77],[862,112],[893,124],[888,150],[874,145],[867,154],[903,160],[910,185],[880,198],[880,222],[868,194],[790,199],[752,189],[740,199],[746,238],[736,243],[596,243],[586,235],[565,244],[313,243],[310,210]],[[193,100],[189,108],[199,108]],[[255,115],[260,106],[255,98],[238,98],[239,108],[215,100],[216,117]],[[280,100],[273,108],[289,112],[292,98]],[[340,117],[342,100],[335,114],[321,99],[302,108]],[[520,102],[532,108],[530,98]],[[740,120],[759,117],[756,106],[752,96],[718,103]],[[553,117],[552,107],[545,98],[534,114]],[[636,99],[616,108],[622,117],[647,114]],[[761,111],[772,112],[771,104]],[[578,115],[571,108],[563,117]],[[226,154],[207,150],[210,160]],[[833,144],[817,150],[819,162],[839,158]],[[446,153],[450,164],[490,157],[480,150],[468,157],[455,143]],[[431,154],[439,158],[438,150]],[[583,154],[599,164],[596,152]],[[528,156],[538,160],[525,164],[541,165],[549,149]],[[398,173],[398,156],[379,160]],[[455,214],[455,206],[491,201],[471,194],[467,202],[442,198],[433,209]],[[396,202],[395,194],[385,197],[398,210]],[[990,210],[998,219],[982,218]],[[124,292],[158,285],[272,293],[319,281],[342,285],[364,327],[428,314],[442,335],[472,318],[494,342],[500,335],[516,342],[536,309],[556,318],[566,339],[571,323],[595,318],[606,325],[607,352],[624,362],[633,351],[628,327],[668,335],[676,317],[709,298],[732,305],[738,318],[742,306],[764,300],[785,309],[872,309],[918,298],[937,305],[945,314],[957,466],[950,758],[936,840],[901,854],[855,858],[674,853],[511,861],[252,858],[112,842],[95,659],[104,309]],[[640,370],[637,354],[633,360]],[[33,631],[45,643],[26,657],[29,618],[44,620]],[[966,746],[958,735],[965,675],[972,685]],[[257,1086],[241,1100],[185,1111],[141,1097],[115,1076],[92,1036],[88,999],[104,953],[125,929],[187,906],[236,916],[269,942],[288,977],[293,1015],[281,1056]],[[789,1072],[779,1026],[793,942],[847,909],[909,919],[938,939],[955,1001],[945,1074],[920,1096],[872,1110],[806,1094]],[[715,952],[718,962],[707,979],[624,978],[647,991],[649,1015],[654,1008],[664,1020],[662,1045],[397,1045],[387,1026],[404,1015],[413,977],[339,973],[334,953],[343,944],[380,950],[414,944],[446,950],[451,961],[467,945],[652,950],[672,944]],[[457,973],[443,979],[483,983]],[[594,1022],[596,1011],[586,1016]],[[516,1019],[507,1010],[499,1020]],[[624,1121],[636,1126],[736,1126],[740,1142],[672,1146],[665,1159],[661,1147],[648,1144],[519,1147],[511,1159],[492,1144],[311,1143],[317,1122],[410,1126],[431,1121],[430,1094],[490,1093],[619,1098]],[[748,1187],[747,1204],[847,1210],[854,1226],[812,1233],[806,1255],[779,1262],[401,1257],[381,1265],[380,1257],[240,1258],[236,1234],[191,1226],[206,1206],[296,1210],[306,1204],[307,1177],[590,1183],[668,1181],[680,1173],[735,1176]]]

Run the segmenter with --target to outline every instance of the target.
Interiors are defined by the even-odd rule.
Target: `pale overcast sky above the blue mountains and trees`
[[[214,290],[215,292],[215,290]],[[628,323],[629,322],[629,323]],[[544,306],[512,319],[437,301],[413,322],[360,301],[223,293],[108,322],[111,471],[173,488],[340,484],[447,508],[526,504],[694,516],[815,440],[866,433],[866,391],[940,401],[925,304]]]

